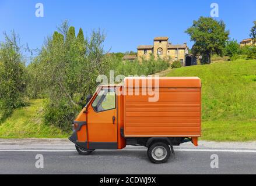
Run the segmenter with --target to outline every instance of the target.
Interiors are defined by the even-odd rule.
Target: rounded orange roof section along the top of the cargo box
[[[157,81],[159,80],[159,85]],[[136,82],[136,83],[135,83]],[[199,77],[125,77],[125,87],[131,88],[136,87],[153,87],[159,86],[173,87],[173,88],[201,88],[201,79]]]

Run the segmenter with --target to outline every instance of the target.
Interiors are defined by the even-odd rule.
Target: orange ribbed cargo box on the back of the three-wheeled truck
[[[157,83],[154,80],[125,78],[124,136],[200,137],[201,80],[198,77],[160,77]],[[150,87],[155,87],[151,93],[158,94],[153,102],[149,101],[153,94],[147,91],[145,95]]]

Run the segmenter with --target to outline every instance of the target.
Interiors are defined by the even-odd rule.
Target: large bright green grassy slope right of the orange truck
[[[167,76],[201,78],[201,140],[256,140],[256,60],[183,67]]]

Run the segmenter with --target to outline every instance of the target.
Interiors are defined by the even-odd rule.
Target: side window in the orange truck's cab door
[[[103,112],[115,109],[115,97],[114,88],[102,89],[92,103],[94,111]]]

